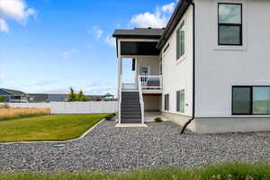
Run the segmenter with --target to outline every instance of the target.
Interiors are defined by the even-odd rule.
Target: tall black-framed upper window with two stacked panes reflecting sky
[[[219,45],[243,44],[242,4],[218,4]]]

